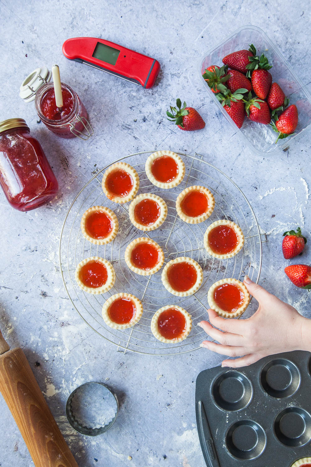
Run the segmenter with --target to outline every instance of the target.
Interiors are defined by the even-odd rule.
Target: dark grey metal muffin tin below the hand
[[[311,456],[311,354],[201,371],[195,409],[207,466],[290,467]]]

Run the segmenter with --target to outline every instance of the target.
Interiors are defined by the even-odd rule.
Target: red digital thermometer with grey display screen
[[[62,45],[62,53],[69,60],[85,63],[145,88],[154,85],[160,71],[158,60],[95,37],[67,39]]]

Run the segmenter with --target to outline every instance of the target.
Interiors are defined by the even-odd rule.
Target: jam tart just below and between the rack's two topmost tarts
[[[129,216],[133,226],[139,230],[155,230],[166,219],[166,202],[152,193],[141,193],[131,202]]]

